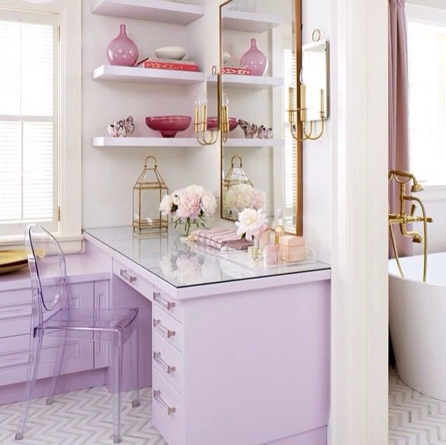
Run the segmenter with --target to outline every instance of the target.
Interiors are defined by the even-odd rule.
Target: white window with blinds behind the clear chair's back
[[[57,19],[0,9],[0,236],[57,230]]]

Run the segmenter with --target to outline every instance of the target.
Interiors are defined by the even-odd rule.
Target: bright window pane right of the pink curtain
[[[446,27],[408,23],[410,164],[417,179],[446,184]]]

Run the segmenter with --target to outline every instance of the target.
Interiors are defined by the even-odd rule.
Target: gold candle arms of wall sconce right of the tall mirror
[[[324,121],[326,119],[325,117],[325,93],[324,90],[320,90],[320,131],[316,135],[313,135],[313,122],[310,121],[310,127],[307,130],[306,128],[306,114],[308,108],[306,107],[306,86],[304,84],[300,84],[300,107],[295,108],[295,89],[293,86],[290,86],[288,88],[288,121],[290,122],[290,132],[292,137],[294,137],[297,141],[306,141],[311,140],[315,141],[316,139],[320,139],[322,135],[324,134]],[[299,113],[299,114],[298,114]],[[296,122],[297,119],[295,119],[295,114],[299,115],[299,121],[302,123],[302,139],[299,138],[297,135],[297,126]]]

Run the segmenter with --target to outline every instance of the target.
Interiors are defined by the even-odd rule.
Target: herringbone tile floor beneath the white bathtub
[[[446,445],[446,402],[418,393],[389,372],[389,445]]]

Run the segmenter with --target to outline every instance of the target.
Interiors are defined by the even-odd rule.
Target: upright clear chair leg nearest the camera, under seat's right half
[[[121,442],[122,353],[124,335],[117,331],[112,342],[113,443]]]

